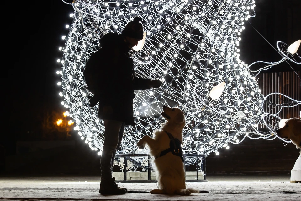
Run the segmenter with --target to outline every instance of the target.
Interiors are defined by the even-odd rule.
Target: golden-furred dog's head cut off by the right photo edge
[[[301,149],[301,119],[288,119],[282,128],[276,130],[276,133],[280,138],[292,140],[296,148]]]

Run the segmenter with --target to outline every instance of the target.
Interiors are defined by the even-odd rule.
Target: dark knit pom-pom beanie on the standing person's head
[[[143,26],[140,23],[140,18],[136,16],[133,21],[130,21],[121,32],[121,35],[136,39],[143,39]]]

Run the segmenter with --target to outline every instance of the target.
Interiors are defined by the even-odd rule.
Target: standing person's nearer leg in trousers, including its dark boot
[[[104,143],[103,153],[100,158],[101,181],[99,193],[101,194],[124,194],[126,191],[121,189],[115,183],[115,178],[112,177],[112,158],[116,153],[116,148],[119,143],[119,131],[122,122],[115,120],[104,120]],[[115,156],[115,154],[114,154]]]

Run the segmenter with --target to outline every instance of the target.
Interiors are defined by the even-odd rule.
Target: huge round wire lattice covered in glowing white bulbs
[[[68,3],[68,2],[65,2]],[[135,91],[136,129],[125,128],[118,154],[148,153],[137,150],[136,143],[152,136],[165,120],[163,105],[179,107],[186,113],[183,151],[209,154],[245,137],[274,139],[270,121],[274,114],[263,111],[264,97],[247,65],[239,59],[240,35],[244,22],[254,17],[252,0],[76,0],[73,22],[63,51],[61,74],[62,104],[76,122],[75,130],[101,154],[103,121],[97,106],[90,108],[91,93],[83,79],[85,63],[99,46],[99,38],[108,32],[121,33],[135,16],[140,16],[147,33],[144,48],[133,58],[138,76],[161,79],[159,89]],[[114,75],[112,75],[114,76]],[[225,82],[218,100],[208,99],[209,91]],[[290,99],[288,97],[288,99]],[[293,100],[295,101],[295,100]],[[301,104],[300,101],[295,101]],[[204,107],[205,106],[205,107]],[[267,131],[262,132],[265,125]],[[255,134],[255,135],[254,135]],[[137,164],[144,159],[135,158]],[[193,163],[187,159],[186,164]]]

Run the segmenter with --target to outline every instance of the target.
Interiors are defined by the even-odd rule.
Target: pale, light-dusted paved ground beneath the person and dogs
[[[0,177],[0,201],[8,200],[301,200],[301,184],[290,183],[284,175],[211,175],[208,182],[187,183],[187,187],[209,193],[191,196],[152,195],[156,183],[119,183],[129,193],[117,196],[98,194],[99,177]]]

